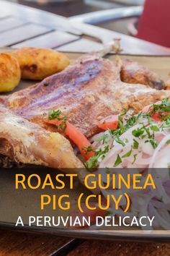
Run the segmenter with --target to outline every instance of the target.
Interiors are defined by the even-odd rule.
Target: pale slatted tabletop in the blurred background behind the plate
[[[39,9],[0,0],[0,47],[35,46],[58,51],[87,52],[121,38],[124,54],[170,55],[170,48],[158,46],[102,27],[76,22]]]

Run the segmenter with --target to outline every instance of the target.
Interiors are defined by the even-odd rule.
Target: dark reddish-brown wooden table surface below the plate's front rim
[[[53,252],[62,244],[68,242],[68,238],[59,236],[35,235],[17,233],[12,231],[0,231],[0,255],[1,256],[60,256]],[[169,256],[169,243],[150,242],[106,242],[97,240],[84,240],[78,247],[67,254],[69,256]],[[61,255],[62,256],[62,255]]]

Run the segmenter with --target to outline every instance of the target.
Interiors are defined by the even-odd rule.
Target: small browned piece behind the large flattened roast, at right
[[[155,72],[130,59],[123,59],[122,63],[120,77],[123,82],[147,85],[157,90],[164,89],[164,81]]]

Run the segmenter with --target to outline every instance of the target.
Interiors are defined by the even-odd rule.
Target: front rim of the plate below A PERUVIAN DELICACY
[[[0,222],[0,228],[29,232],[34,234],[51,234],[54,236],[66,236],[78,239],[99,239],[99,240],[125,240],[135,242],[170,242],[169,231],[143,231],[143,230],[129,230],[129,231],[108,231],[108,230],[83,230],[83,229],[63,229],[55,227],[37,227],[37,226],[14,226],[14,223]]]

